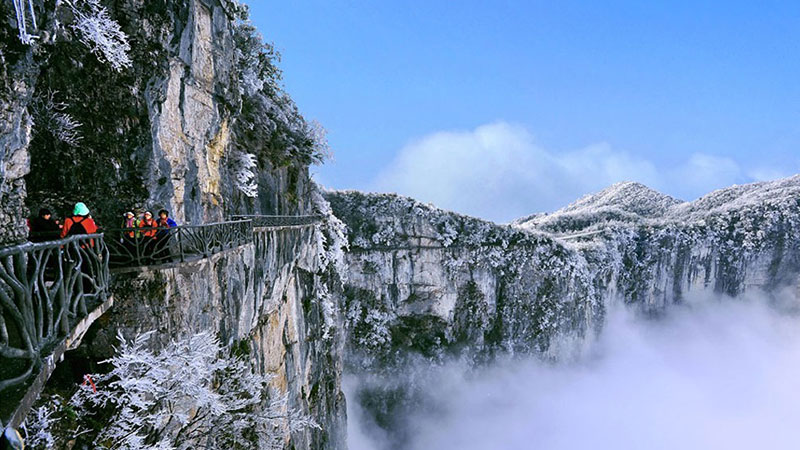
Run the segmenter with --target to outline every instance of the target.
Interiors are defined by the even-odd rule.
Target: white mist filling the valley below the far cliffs
[[[597,345],[570,364],[427,369],[416,378],[427,405],[410,408],[408,439],[386,440],[350,401],[350,446],[795,448],[800,319],[763,304],[706,300],[663,321],[615,311]]]

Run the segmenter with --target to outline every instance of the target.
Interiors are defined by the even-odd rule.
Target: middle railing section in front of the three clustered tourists
[[[234,220],[172,228],[104,230],[112,268],[160,265],[206,258],[253,241],[253,224]]]

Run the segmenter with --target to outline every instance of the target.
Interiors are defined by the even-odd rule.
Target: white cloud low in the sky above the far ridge
[[[619,181],[638,181],[693,200],[732,184],[789,176],[793,169],[746,169],[730,158],[702,153],[659,167],[607,144],[554,152],[537,145],[524,127],[496,122],[410,143],[372,188],[507,222],[556,210]]]

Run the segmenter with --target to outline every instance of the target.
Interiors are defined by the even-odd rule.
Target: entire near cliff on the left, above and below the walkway
[[[11,2],[0,4],[0,245],[24,239],[26,207],[61,218],[83,201],[106,228],[134,208],[196,224],[320,207],[308,175],[318,142],[238,2],[99,2],[131,44],[120,70],[87,46],[66,2],[32,4],[32,45],[20,43]],[[314,227],[257,237],[180,268],[115,274],[117,307],[80,351],[105,358],[118,330],[154,330],[157,345],[213,330],[322,426],[287,436],[287,446],[342,448],[338,274],[327,238]]]

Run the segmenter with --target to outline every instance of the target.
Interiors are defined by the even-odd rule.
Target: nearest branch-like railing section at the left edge
[[[101,234],[0,250],[0,415],[25,395],[75,324],[108,298],[108,262]]]

